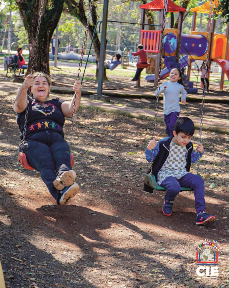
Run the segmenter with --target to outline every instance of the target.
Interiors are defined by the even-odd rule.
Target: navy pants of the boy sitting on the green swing
[[[170,176],[161,182],[161,186],[166,189],[166,199],[170,201],[174,201],[181,187],[191,188],[194,191],[197,214],[201,210],[205,211],[205,184],[199,175],[187,173],[180,179]]]

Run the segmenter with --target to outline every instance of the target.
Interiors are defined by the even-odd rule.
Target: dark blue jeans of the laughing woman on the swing
[[[28,164],[40,172],[43,182],[58,203],[60,193],[54,187],[53,181],[63,172],[72,170],[69,144],[57,132],[41,131],[26,138],[24,153]]]

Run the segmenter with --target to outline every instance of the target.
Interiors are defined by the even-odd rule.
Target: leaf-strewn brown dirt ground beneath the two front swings
[[[196,226],[192,192],[177,196],[171,217],[161,211],[164,192],[143,192],[153,123],[80,109],[72,146],[80,192],[60,206],[38,172],[17,163],[14,97],[0,96],[0,259],[7,288],[229,286],[229,135],[202,134],[206,211],[217,220]],[[191,104],[191,113],[198,111]],[[209,105],[207,113],[228,117],[228,105],[220,107]],[[157,124],[158,140],[164,129]],[[66,137],[69,130],[67,119]],[[198,137],[196,131],[194,144]],[[220,242],[218,277],[196,274],[195,243],[208,238]]]

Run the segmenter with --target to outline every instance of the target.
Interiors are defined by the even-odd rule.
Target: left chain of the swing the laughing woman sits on
[[[41,21],[42,21],[41,19],[42,19],[43,5],[44,5],[44,0],[41,1],[41,8],[40,8],[40,12],[39,12],[39,19],[38,19],[36,38],[34,40],[34,54],[33,54],[33,57],[32,57],[32,64],[31,64],[31,70],[30,70],[31,74],[33,74],[33,71],[34,71],[35,51],[37,49],[38,34],[39,34],[39,31],[40,31],[40,24],[41,24]],[[29,97],[32,97],[31,95],[32,95],[31,88],[28,88],[27,96],[26,96],[27,105],[26,105],[26,109],[25,109],[25,120],[24,120],[23,133],[22,133],[22,153],[24,153],[25,133],[26,133],[26,126],[27,126],[27,119],[28,119],[28,109],[29,109]]]

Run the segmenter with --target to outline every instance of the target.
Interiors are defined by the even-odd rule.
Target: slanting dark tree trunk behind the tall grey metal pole
[[[77,17],[81,23],[86,27],[87,26],[87,17],[85,15],[85,9],[84,9],[84,1],[83,0],[79,0],[78,2],[75,0],[65,0],[66,5],[68,6],[68,11],[72,16]],[[96,12],[96,5],[93,5],[92,8],[92,22],[89,24],[89,35],[90,38],[93,38],[93,31],[95,29],[96,23],[97,23],[97,12]],[[96,56],[96,60],[99,61],[100,58],[100,47],[101,47],[101,43],[100,40],[98,38],[98,34],[96,33],[94,35],[94,39],[93,39],[93,49],[94,49],[94,53]],[[98,67],[96,69],[96,77],[98,77]],[[104,78],[107,79],[106,77],[106,69],[104,69]]]

